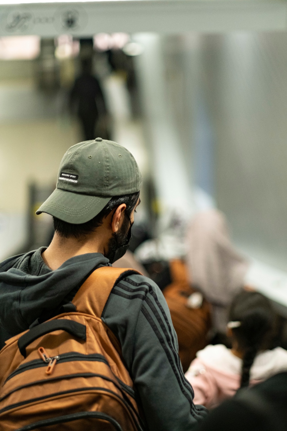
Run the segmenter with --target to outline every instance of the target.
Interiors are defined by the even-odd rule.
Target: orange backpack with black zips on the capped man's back
[[[101,267],[80,287],[77,312],[6,341],[0,352],[0,431],[139,431],[142,421],[120,345],[101,315],[117,279]]]

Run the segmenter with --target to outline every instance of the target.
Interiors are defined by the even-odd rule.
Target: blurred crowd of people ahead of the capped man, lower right
[[[279,429],[269,416],[276,403],[282,421],[287,411],[286,319],[247,285],[252,264],[232,244],[224,214],[210,209],[187,223],[170,215],[156,238],[146,239],[145,225],[133,233],[114,266],[137,269],[162,290],[194,403],[214,409],[202,429]]]

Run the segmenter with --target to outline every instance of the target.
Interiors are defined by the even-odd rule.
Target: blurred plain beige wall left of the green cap
[[[0,212],[26,212],[28,183],[56,183],[63,154],[79,141],[77,124],[0,124]]]

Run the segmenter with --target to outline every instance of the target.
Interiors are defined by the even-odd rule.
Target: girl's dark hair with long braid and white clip
[[[276,315],[267,298],[258,292],[243,291],[231,303],[229,320],[239,321],[232,334],[244,353],[241,386],[248,386],[250,368],[259,350],[267,349],[275,328]]]

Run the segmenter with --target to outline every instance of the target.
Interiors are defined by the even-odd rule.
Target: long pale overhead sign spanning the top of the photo
[[[276,0],[114,0],[27,4],[0,0],[0,4],[0,36],[287,29],[287,3]]]

